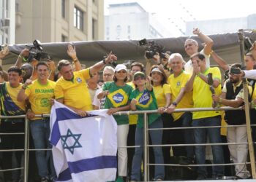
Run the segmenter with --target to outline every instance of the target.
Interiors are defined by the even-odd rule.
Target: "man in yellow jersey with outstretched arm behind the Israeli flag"
[[[68,60],[60,60],[58,70],[61,78],[56,82],[54,90],[56,100],[64,103],[64,105],[71,108],[78,115],[86,116],[86,111],[92,110],[86,79],[90,79],[94,73],[100,71],[106,64],[112,63],[116,59],[116,56],[110,52],[108,58],[80,71],[73,71]]]

